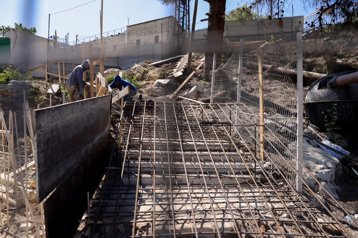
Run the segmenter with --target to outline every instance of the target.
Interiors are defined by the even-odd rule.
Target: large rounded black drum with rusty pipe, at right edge
[[[308,89],[304,108],[319,128],[341,133],[358,131],[358,70],[329,74]]]

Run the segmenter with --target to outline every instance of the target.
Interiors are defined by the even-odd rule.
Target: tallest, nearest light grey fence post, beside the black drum
[[[302,162],[303,162],[303,63],[302,63],[302,32],[297,32],[297,192],[302,193]],[[300,162],[300,163],[299,163]],[[301,178],[300,178],[301,177]]]

